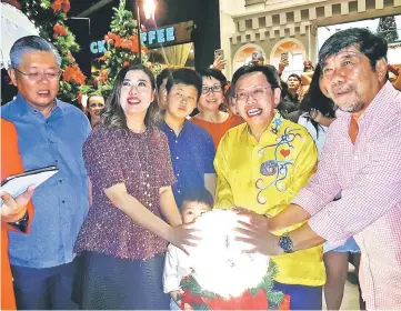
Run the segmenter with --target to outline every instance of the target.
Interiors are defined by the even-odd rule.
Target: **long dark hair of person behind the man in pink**
[[[307,94],[301,101],[301,110],[310,113],[312,109],[319,110],[327,118],[335,118],[335,109],[333,101],[323,94],[320,89],[320,78],[322,74],[321,67],[318,64],[314,69],[312,81],[309,86]],[[319,133],[320,124],[310,118],[313,127]]]

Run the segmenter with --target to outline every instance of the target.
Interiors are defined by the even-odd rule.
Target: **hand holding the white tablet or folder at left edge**
[[[28,187],[26,192],[17,198],[12,198],[9,193],[2,192],[0,194],[3,201],[0,209],[1,221],[16,222],[19,221],[27,212],[27,204],[33,195],[34,185]]]

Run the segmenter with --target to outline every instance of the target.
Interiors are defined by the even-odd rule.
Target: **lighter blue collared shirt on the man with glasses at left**
[[[50,268],[71,262],[89,209],[82,159],[82,146],[91,131],[89,121],[78,108],[59,100],[44,118],[20,94],[1,107],[1,117],[17,128],[24,170],[47,165],[59,169],[34,191],[30,234],[9,233],[11,264]]]

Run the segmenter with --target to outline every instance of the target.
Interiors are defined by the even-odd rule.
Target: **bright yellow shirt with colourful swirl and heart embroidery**
[[[275,111],[258,142],[243,123],[220,141],[214,169],[218,174],[214,208],[241,207],[259,214],[280,213],[314,173],[318,151],[308,131]],[[281,235],[301,225],[274,232]],[[322,247],[272,257],[275,280],[284,284],[322,285],[325,282]]]

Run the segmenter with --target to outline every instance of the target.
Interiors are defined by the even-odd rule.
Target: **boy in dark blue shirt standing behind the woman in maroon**
[[[193,70],[174,70],[166,84],[166,114],[161,126],[169,140],[171,162],[177,178],[176,202],[181,207],[184,193],[203,189],[214,195],[214,146],[211,136],[187,117],[197,107],[202,78]]]

